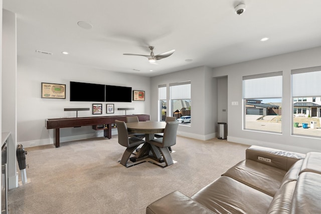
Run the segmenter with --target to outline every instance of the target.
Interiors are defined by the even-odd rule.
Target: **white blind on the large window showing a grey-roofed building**
[[[243,98],[282,97],[282,72],[243,77]]]

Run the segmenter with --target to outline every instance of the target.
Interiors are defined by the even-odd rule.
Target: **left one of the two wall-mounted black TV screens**
[[[70,101],[105,102],[105,85],[70,81]]]

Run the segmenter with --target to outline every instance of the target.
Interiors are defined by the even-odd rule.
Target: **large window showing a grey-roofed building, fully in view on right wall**
[[[243,128],[282,132],[282,72],[243,77]]]

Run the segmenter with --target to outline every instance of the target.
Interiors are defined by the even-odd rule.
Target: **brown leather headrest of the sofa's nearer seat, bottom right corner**
[[[302,172],[296,181],[290,213],[320,213],[321,174]]]

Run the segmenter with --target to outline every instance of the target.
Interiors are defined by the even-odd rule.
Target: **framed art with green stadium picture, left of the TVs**
[[[66,85],[41,83],[41,98],[66,99]]]

